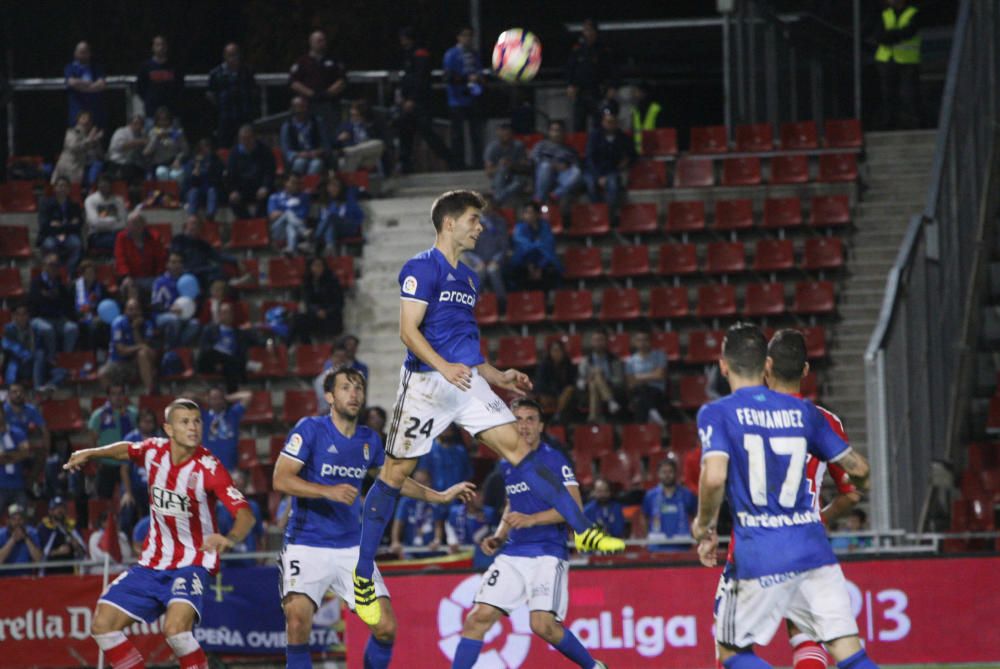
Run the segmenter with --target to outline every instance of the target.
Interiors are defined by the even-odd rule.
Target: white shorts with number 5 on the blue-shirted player
[[[354,566],[358,563],[360,547],[318,548],[288,544],[278,556],[281,579],[281,598],[298,593],[313,601],[316,609],[323,604],[327,590],[347,603],[354,610]],[[385,581],[378,567],[372,576],[375,596],[388,597]]]

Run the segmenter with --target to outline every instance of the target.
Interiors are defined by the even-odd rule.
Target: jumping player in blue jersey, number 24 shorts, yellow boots
[[[576,531],[579,550],[621,551],[625,544],[592,526],[562,485],[557,473],[537,461],[514,428],[514,417],[490,385],[518,395],[531,389],[527,375],[501,372],[479,347],[475,306],[476,273],[459,262],[475,248],[483,231],[482,197],[450,191],[434,201],[434,246],[411,258],[399,273],[399,336],[406,345],[399,391],[386,438],[385,466],[365,499],[361,552],[355,570],[355,604],[369,625],[379,620],[372,580],[375,552],[392,520],[400,488],[430,451],[434,438],[457,423],[522,470],[535,494],[559,512]]]

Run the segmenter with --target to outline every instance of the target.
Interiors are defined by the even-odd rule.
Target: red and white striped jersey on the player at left
[[[139,564],[164,570],[194,565],[215,572],[218,553],[201,550],[205,537],[218,531],[215,500],[225,504],[233,517],[249,508],[229,472],[204,446],[198,446],[184,462],[173,464],[169,439],[135,442],[128,454],[149,473],[149,535]]]

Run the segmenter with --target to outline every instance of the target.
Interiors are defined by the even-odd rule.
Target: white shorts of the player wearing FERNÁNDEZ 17
[[[715,638],[720,643],[735,648],[766,646],[785,618],[820,642],[856,635],[858,624],[840,565],[719,581]]]

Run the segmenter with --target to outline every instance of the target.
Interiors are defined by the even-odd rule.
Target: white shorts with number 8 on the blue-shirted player
[[[527,604],[531,611],[551,611],[562,622],[569,608],[569,562],[549,555],[500,555],[483,574],[474,601],[507,615]]]

